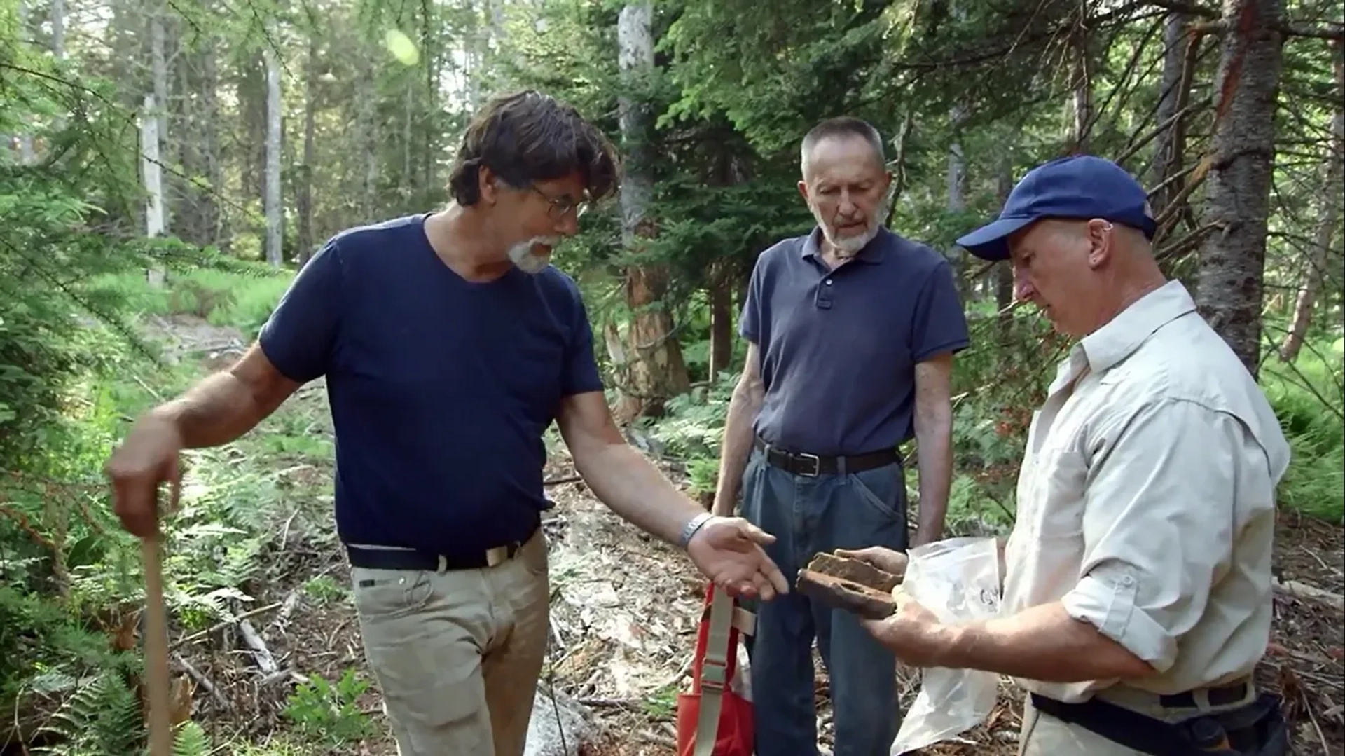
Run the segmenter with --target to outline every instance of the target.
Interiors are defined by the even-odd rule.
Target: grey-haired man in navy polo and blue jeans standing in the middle
[[[948,262],[884,227],[878,132],[834,118],[803,140],[799,191],[818,226],[761,253],[742,307],[746,365],[729,404],[714,513],[773,533],[788,576],[812,554],[907,547],[897,447],[919,444],[916,543],[943,534],[952,355],[967,324]],[[830,673],[835,756],[886,756],[896,659],[853,615],[798,593],[759,607],[752,638],[757,756],[816,753],[814,636]]]

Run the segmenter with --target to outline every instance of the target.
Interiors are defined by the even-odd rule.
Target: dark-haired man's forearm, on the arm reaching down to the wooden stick
[[[152,414],[178,426],[184,448],[219,447],[252,430],[276,408],[262,408],[233,373],[217,373]]]

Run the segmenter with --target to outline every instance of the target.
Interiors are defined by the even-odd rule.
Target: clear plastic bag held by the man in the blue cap
[[[962,624],[999,613],[999,549],[994,538],[950,538],[911,549],[898,591],[940,621]],[[982,724],[998,694],[999,675],[979,670],[927,669],[920,694],[901,721],[892,756],[948,740]]]

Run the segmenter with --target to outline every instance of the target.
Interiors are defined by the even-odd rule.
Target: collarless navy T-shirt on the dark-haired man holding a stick
[[[261,331],[286,377],[327,377],[343,542],[479,552],[549,506],[542,432],[562,397],[603,390],[578,288],[547,266],[469,282],[425,215],[343,231]]]

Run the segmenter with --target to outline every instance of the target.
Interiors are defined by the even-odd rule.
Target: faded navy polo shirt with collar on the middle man
[[[886,229],[827,268],[820,230],[752,270],[738,332],[757,344],[765,402],[755,430],[814,455],[892,449],[915,434],[915,366],[970,343],[952,266]]]

